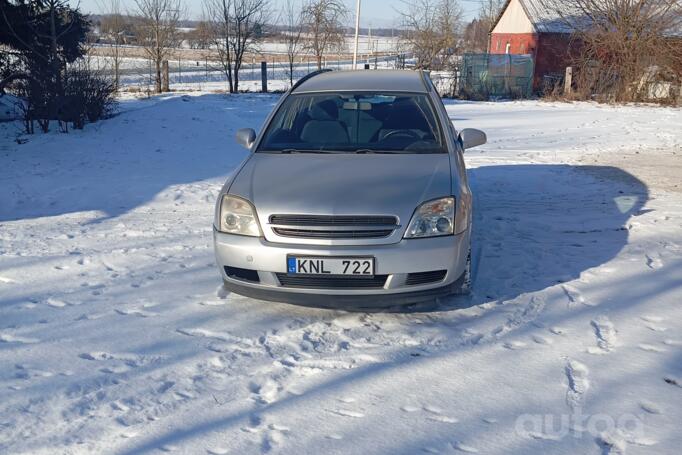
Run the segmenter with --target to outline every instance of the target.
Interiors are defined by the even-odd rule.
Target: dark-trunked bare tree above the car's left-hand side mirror
[[[269,0],[206,0],[204,3],[230,93],[239,91],[244,56],[258,51],[270,17],[269,8]]]

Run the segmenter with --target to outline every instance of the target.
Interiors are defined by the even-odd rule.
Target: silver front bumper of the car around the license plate
[[[213,232],[216,262],[226,288],[249,297],[320,306],[363,303],[401,305],[441,297],[456,290],[469,253],[469,230],[459,235],[401,240],[389,245],[292,245],[263,238]],[[373,256],[375,274],[387,275],[381,288],[339,289],[283,286],[277,274],[286,274],[287,255]],[[225,267],[255,270],[259,282],[229,277]],[[408,274],[445,270],[442,280],[408,285]]]

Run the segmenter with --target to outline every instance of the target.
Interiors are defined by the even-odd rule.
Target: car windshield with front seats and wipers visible
[[[403,93],[291,95],[258,151],[446,153],[428,97]]]

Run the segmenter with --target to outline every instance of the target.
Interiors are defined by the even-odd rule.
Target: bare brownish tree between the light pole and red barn
[[[460,35],[462,10],[457,0],[403,0],[398,13],[417,66],[442,68],[456,51]]]

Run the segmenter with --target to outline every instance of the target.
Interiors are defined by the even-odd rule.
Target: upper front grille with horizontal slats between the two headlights
[[[271,215],[270,224],[281,237],[305,239],[378,239],[398,228],[395,216]]]

